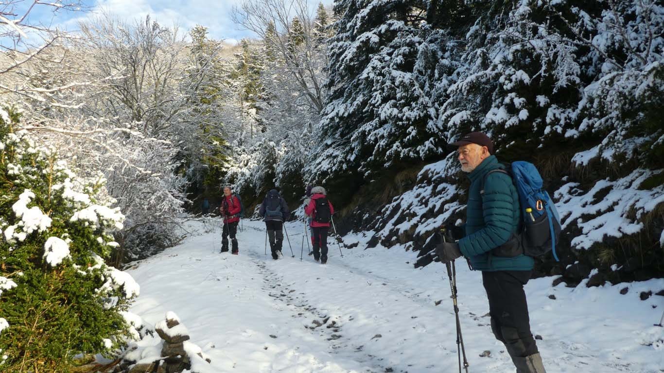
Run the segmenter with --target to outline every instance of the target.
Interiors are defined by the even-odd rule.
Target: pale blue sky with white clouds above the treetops
[[[319,0],[309,1],[313,7]],[[161,25],[178,25],[183,33],[195,25],[203,25],[208,28],[210,37],[224,38],[229,42],[252,37],[250,31],[236,25],[230,16],[232,7],[240,5],[242,0],[83,0],[83,3],[88,11],[58,12],[55,17],[50,7],[35,9],[31,21],[73,31],[78,21],[108,11],[127,22],[150,15]],[[323,3],[329,6],[332,1],[324,0]]]

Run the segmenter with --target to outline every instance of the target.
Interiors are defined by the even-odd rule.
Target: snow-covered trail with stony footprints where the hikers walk
[[[195,222],[189,228],[197,235],[138,263],[129,271],[141,285],[131,311],[152,324],[175,311],[212,358],[210,372],[458,371],[444,265],[414,270],[414,253],[363,250],[363,236],[345,238],[361,244],[343,249],[344,258],[330,238],[326,265],[304,244],[300,261],[301,223],[286,226],[295,258],[285,240],[284,258],[274,261],[269,248],[264,255],[264,224],[242,225],[238,256],[219,253],[218,227]],[[457,272],[469,372],[514,372],[491,335],[480,273],[463,261]],[[639,300],[641,289],[664,289],[664,280],[590,289],[551,281],[526,287],[547,372],[664,372],[661,347],[641,342],[643,332],[658,333],[664,299]]]

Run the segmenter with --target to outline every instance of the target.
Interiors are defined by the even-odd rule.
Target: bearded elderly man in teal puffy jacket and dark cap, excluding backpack
[[[511,177],[493,155],[493,142],[481,132],[451,143],[461,171],[471,181],[466,205],[465,236],[436,247],[444,263],[462,255],[482,271],[489,299],[491,331],[505,344],[517,373],[543,373],[542,358],[531,333],[523,291],[533,271],[533,258],[523,255],[517,232],[521,224],[519,195]]]

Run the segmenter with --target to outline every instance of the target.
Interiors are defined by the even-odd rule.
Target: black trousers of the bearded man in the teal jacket
[[[523,285],[530,277],[531,271],[482,272],[482,282],[489,298],[491,331],[505,344],[512,357],[538,352],[523,291]]]

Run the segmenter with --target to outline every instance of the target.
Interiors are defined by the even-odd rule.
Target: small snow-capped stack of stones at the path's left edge
[[[118,373],[181,373],[191,369],[191,356],[185,350],[185,341],[189,340],[189,331],[180,323],[175,313],[168,312],[164,320],[155,325],[155,331],[163,339],[161,356],[156,356],[153,362],[135,364],[135,361],[123,361],[114,370]],[[203,354],[197,354],[204,358]],[[209,358],[205,360],[210,363]]]

